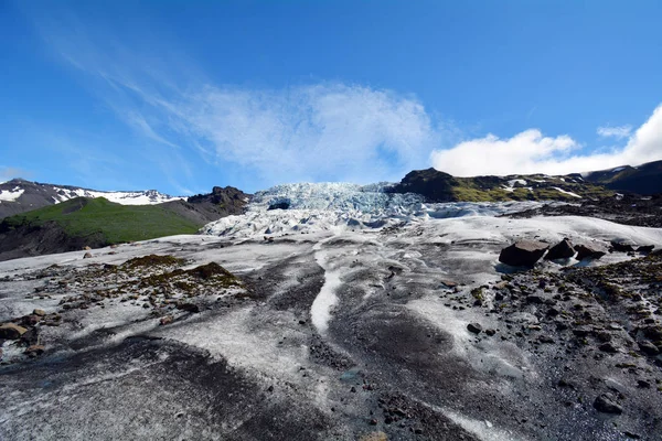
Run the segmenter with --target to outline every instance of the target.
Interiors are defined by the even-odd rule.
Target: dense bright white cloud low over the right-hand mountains
[[[638,165],[662,159],[662,106],[628,139],[624,147],[601,153],[577,152],[581,146],[569,136],[544,137],[531,129],[509,139],[494,135],[435,150],[430,158],[437,170],[458,176],[482,174],[566,174]]]

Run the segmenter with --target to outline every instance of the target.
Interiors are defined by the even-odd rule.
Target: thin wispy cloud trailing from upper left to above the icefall
[[[146,62],[77,20],[45,23],[40,26],[44,40],[96,79],[94,93],[119,120],[162,147],[154,160],[171,172],[175,162],[192,169],[194,157],[241,170],[265,185],[397,180],[427,166],[430,150],[444,138],[442,126],[409,95],[342,82],[222,85],[192,75],[188,61],[160,68],[162,61]],[[185,74],[164,74],[182,65]]]

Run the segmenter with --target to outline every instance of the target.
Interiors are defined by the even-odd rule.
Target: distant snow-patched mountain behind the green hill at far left
[[[13,179],[0,184],[0,218],[65,202],[75,197],[105,197],[121,205],[153,205],[181,201],[156,190],[102,192],[71,185],[43,184]]]

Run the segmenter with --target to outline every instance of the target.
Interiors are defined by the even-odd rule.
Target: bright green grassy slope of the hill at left
[[[158,205],[120,205],[104,197],[74,200],[7,217],[0,229],[55,222],[71,237],[103,235],[106,245],[193,234],[201,225]]]

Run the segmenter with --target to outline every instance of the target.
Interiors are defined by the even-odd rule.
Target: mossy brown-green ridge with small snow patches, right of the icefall
[[[578,201],[613,194],[580,174],[549,176],[513,174],[509,176],[457,178],[435,169],[415,170],[393,187],[393,193],[417,193],[427,202]]]

